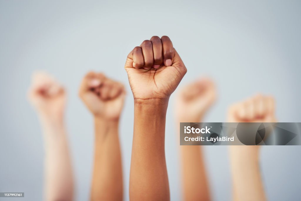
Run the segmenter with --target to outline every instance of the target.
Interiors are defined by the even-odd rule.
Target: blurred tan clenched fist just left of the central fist
[[[125,94],[123,84],[95,72],[84,77],[79,89],[80,98],[92,114],[107,120],[119,119]]]

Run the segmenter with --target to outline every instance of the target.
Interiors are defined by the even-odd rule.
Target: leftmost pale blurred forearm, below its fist
[[[45,141],[45,200],[73,200],[73,172],[62,120],[41,118]]]

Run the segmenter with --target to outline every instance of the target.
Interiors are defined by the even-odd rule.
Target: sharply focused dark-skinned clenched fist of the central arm
[[[129,53],[125,69],[135,100],[168,99],[187,69],[169,37],[153,36]]]

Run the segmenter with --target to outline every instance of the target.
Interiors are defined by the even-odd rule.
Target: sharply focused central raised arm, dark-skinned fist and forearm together
[[[169,96],[187,69],[169,37],[135,47],[125,69],[134,96],[130,200],[169,200],[164,138]]]

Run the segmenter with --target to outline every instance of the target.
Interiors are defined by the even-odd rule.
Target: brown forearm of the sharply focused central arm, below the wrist
[[[131,200],[169,200],[164,150],[167,105],[168,101],[135,102]]]

